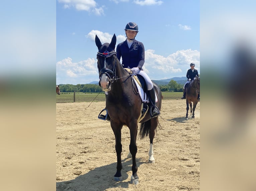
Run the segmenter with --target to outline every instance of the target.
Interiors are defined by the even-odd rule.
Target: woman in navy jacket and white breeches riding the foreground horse
[[[148,75],[143,71],[142,66],[145,62],[145,49],[142,42],[135,40],[138,31],[138,25],[130,22],[125,27],[126,40],[116,47],[117,58],[120,61],[122,57],[122,66],[130,68],[133,74],[143,76],[147,84],[148,97],[150,100],[150,115],[157,117],[160,114],[159,109],[155,105],[155,90],[153,83]]]

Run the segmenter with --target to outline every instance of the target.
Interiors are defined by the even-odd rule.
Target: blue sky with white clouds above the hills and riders
[[[186,75],[194,62],[200,73],[199,0],[57,0],[56,84],[98,81],[95,35],[117,44],[136,22],[145,47],[143,69],[152,80]]]

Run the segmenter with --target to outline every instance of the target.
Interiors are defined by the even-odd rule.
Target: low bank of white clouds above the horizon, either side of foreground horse
[[[191,62],[196,64],[196,69],[200,73],[200,52],[197,50],[179,50],[164,57],[148,49],[145,51],[143,70],[152,80],[183,77],[190,68]],[[87,84],[98,81],[98,76],[97,60],[93,58],[80,62],[66,58],[56,63],[57,84]]]

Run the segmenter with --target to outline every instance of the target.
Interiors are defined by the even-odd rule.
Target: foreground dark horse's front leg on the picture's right
[[[129,150],[132,154],[132,176],[131,176],[131,184],[138,184],[139,183],[139,177],[137,175],[138,167],[136,164],[136,153],[137,153],[137,145],[136,145],[136,138],[137,138],[137,132],[138,132],[138,124],[136,121],[136,124],[134,123],[130,127],[130,145]]]

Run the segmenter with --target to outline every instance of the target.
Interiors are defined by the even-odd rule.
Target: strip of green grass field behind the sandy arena
[[[163,99],[180,99],[182,92],[162,92]],[[105,93],[76,93],[75,102],[105,101]],[[60,95],[56,94],[56,103],[74,102],[74,92]]]

